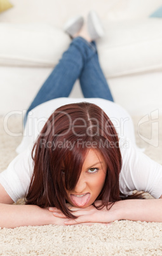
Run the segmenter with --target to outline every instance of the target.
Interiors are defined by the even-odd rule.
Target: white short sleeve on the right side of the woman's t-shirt
[[[162,195],[162,166],[141,152],[130,139],[120,141],[123,166],[120,191],[128,196],[133,190],[148,192],[158,199]]]

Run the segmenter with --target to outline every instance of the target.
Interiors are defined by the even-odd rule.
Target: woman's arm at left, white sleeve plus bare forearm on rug
[[[34,205],[11,205],[14,203],[13,200],[17,201],[19,197],[24,196],[29,186],[30,173],[32,173],[30,155],[30,149],[27,149],[26,152],[18,155],[8,169],[1,174],[3,185],[0,183],[0,227],[64,225],[64,218],[54,217],[47,209]]]

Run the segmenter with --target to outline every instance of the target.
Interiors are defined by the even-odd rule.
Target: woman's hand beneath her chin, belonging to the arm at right
[[[101,201],[95,201],[95,205],[100,205]],[[57,208],[49,208],[49,211],[53,212],[53,215],[58,218],[63,218],[63,222],[65,225],[75,225],[75,224],[86,224],[92,225],[93,223],[102,223],[102,224],[110,224],[114,222],[114,220],[121,219],[119,217],[119,206],[118,202],[116,202],[110,210],[107,210],[104,207],[102,210],[97,210],[93,205],[88,206],[87,208],[76,208],[71,206],[71,204],[67,204],[69,210],[72,211],[72,214],[75,215],[76,218],[73,220],[72,218],[69,220],[65,220],[65,215],[62,211],[58,210]]]

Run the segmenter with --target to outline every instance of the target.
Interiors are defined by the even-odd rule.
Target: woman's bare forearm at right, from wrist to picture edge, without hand
[[[162,199],[131,199],[117,204],[121,220],[162,222]]]

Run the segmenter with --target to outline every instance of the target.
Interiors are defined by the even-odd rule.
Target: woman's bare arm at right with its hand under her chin
[[[160,197],[162,199],[162,196]],[[83,223],[110,223],[115,220],[140,220],[145,222],[162,222],[162,200],[161,199],[128,199],[116,202],[110,210],[105,207],[97,210],[94,206],[80,209],[71,207],[76,220],[65,221],[66,225]],[[100,204],[100,201],[96,201]],[[63,213],[57,208],[50,208],[55,217],[64,218]]]

